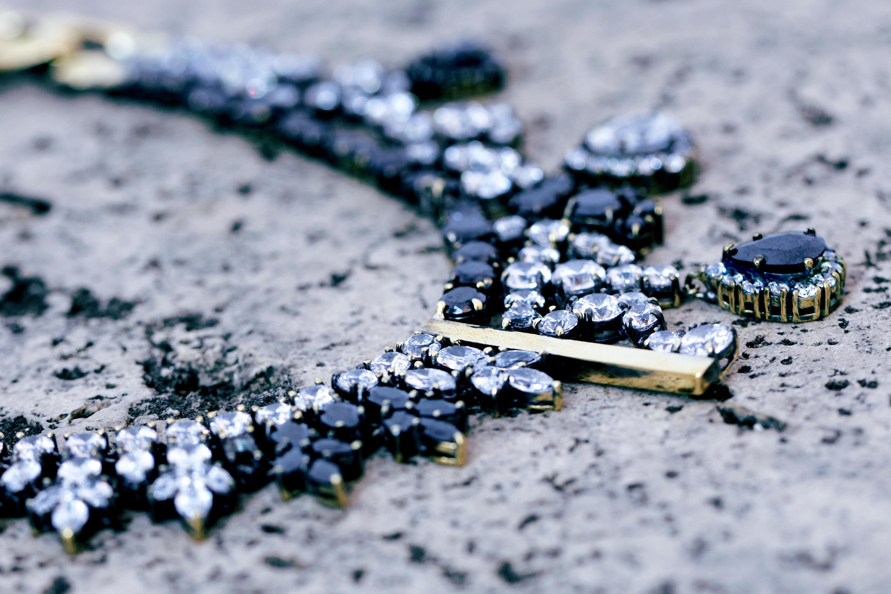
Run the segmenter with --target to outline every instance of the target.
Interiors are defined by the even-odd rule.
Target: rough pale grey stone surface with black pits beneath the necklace
[[[503,97],[548,167],[617,113],[660,108],[691,127],[706,167],[693,194],[707,199],[667,200],[666,247],[651,263],[689,270],[725,241],[812,225],[846,257],[849,295],[825,321],[737,326],[745,346],[722,406],[782,432],[726,424],[715,402],[568,386],[559,413],[474,419],[465,468],[375,457],[347,511],[284,503],[268,488],[206,542],[136,515],[74,559],[52,534],[7,521],[0,591],[891,589],[887,3],[84,0],[77,10],[333,62],[398,64],[437,41],[481,37],[506,56]],[[395,200],[290,153],[262,159],[183,113],[21,78],[0,85],[2,189],[52,203],[37,215],[0,202],[0,264],[47,291],[31,282],[27,311],[0,304],[0,429],[108,427],[304,385],[429,313],[448,266],[433,226]],[[666,318],[733,320],[703,304]],[[164,340],[202,370],[181,378],[182,389],[203,387],[197,403],[146,403],[157,393],[139,362]]]

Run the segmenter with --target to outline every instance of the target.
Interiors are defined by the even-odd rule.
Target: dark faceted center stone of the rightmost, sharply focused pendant
[[[777,233],[732,248],[724,259],[737,266],[755,268],[755,257],[764,256],[764,264],[759,269],[762,273],[803,273],[805,258],[816,260],[825,249],[826,241],[819,235]]]

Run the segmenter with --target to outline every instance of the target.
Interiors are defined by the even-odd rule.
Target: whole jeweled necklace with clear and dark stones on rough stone
[[[69,88],[274,134],[375,183],[441,224],[455,264],[421,330],[330,387],[113,435],[18,435],[0,476],[4,510],[56,531],[72,552],[121,508],[178,518],[200,538],[239,493],[273,479],[286,499],[309,492],[344,506],[380,447],[397,461],[461,465],[470,412],[559,410],[554,377],[702,395],[732,364],[737,337],[720,324],[667,330],[662,308],[688,297],[776,321],[819,319],[841,302],[845,264],[813,230],[728,245],[720,264],[683,282],[672,266],[637,264],[663,239],[650,197],[693,182],[690,135],[662,114],[615,118],[546,176],[518,151],[509,106],[454,102],[505,82],[478,45],[326,78],[304,57],[105,23],[4,13],[0,30],[0,69],[48,63]],[[443,101],[453,102],[419,110]]]

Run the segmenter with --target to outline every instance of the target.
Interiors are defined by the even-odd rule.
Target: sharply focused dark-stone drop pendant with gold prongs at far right
[[[838,307],[845,278],[845,261],[808,229],[767,237],[756,233],[740,246],[728,243],[721,262],[701,265],[684,285],[692,297],[733,313],[799,322],[819,320]]]

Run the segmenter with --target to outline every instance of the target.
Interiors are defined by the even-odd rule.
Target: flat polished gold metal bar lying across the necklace
[[[544,351],[549,365],[555,363],[560,368],[560,379],[564,381],[695,396],[702,395],[721,378],[720,365],[710,357],[564,340],[437,318],[428,318],[421,331],[477,345]]]

